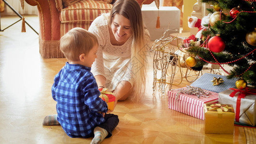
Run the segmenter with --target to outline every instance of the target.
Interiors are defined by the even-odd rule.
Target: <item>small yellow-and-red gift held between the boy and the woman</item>
[[[99,97],[107,103],[108,109],[114,110],[114,103],[115,103],[116,97],[113,96],[113,93],[109,92],[107,88],[100,88],[99,91],[100,91]]]

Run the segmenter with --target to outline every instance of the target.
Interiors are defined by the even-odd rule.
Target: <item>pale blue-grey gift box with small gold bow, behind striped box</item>
[[[224,81],[223,83],[220,83],[219,85],[213,85],[214,83],[211,82],[215,78],[222,78]],[[219,75],[219,74],[212,74],[212,73],[204,73],[202,76],[200,76],[197,80],[195,80],[194,83],[190,84],[191,86],[200,87],[202,89],[212,91],[215,93],[222,92],[224,90],[227,90],[229,88],[232,88],[235,86],[236,78],[234,79],[227,79],[227,76]]]

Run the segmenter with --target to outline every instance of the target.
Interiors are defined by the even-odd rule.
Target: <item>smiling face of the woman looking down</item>
[[[118,42],[125,43],[132,36],[130,21],[120,14],[115,14],[111,23],[112,33]]]

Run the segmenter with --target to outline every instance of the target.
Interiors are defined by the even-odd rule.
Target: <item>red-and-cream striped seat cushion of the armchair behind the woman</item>
[[[91,24],[101,13],[110,12],[112,4],[97,0],[81,0],[61,10],[61,23]]]

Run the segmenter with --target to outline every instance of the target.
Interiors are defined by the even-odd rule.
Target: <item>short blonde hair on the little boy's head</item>
[[[61,37],[60,48],[66,59],[78,61],[81,54],[87,55],[89,51],[98,45],[97,37],[91,32],[75,27]]]

